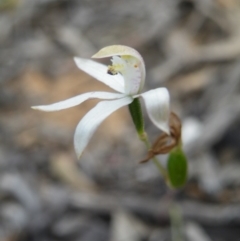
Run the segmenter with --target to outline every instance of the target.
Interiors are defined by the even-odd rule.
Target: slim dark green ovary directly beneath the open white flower
[[[133,102],[128,105],[128,107],[137,133],[141,138],[144,135],[144,121],[140,100],[135,98]]]

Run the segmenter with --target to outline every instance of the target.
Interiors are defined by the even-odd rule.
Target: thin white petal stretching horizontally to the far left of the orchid
[[[119,94],[119,93],[88,92],[88,93],[84,93],[51,105],[32,106],[32,108],[36,110],[42,110],[42,111],[58,111],[58,110],[63,110],[63,109],[67,109],[67,108],[79,105],[88,99],[98,98],[98,99],[108,100],[108,99],[119,99],[124,96],[125,96],[124,94]]]

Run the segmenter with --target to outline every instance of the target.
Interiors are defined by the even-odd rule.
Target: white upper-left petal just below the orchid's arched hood
[[[89,59],[82,59],[75,57],[74,61],[79,69],[91,75],[98,81],[101,81],[105,85],[112,89],[124,93],[124,80],[120,74],[110,75],[107,73],[108,67],[106,65],[97,63]]]

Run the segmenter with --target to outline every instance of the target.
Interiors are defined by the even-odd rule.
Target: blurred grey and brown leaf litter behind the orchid
[[[0,240],[240,240],[239,21],[239,0],[0,0]],[[73,56],[112,44],[142,54],[145,90],[170,91],[189,159],[179,191],[139,164],[146,150],[127,108],[80,161],[74,130],[97,102],[30,108],[109,90]]]

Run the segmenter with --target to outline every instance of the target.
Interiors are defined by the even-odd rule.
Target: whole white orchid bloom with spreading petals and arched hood
[[[129,105],[134,98],[142,97],[152,122],[162,131],[169,133],[169,93],[166,88],[157,88],[141,93],[145,82],[145,64],[141,55],[134,49],[113,45],[101,49],[92,58],[112,57],[112,65],[105,66],[89,59],[75,57],[79,69],[108,85],[118,93],[88,92],[73,98],[51,104],[33,106],[42,111],[58,111],[83,103],[88,99],[99,98],[99,102],[79,122],[74,147],[77,156],[82,155],[94,131],[102,121],[119,108]]]

